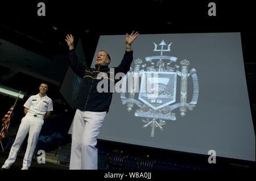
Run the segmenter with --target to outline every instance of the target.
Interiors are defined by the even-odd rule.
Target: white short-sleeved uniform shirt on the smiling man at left
[[[53,111],[52,99],[47,95],[43,96],[43,98],[39,94],[31,95],[24,107],[28,108],[28,113],[37,115],[46,115],[47,111]]]

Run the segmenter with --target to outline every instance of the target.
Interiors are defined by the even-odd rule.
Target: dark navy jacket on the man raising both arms
[[[75,73],[82,78],[79,89],[79,96],[76,102],[76,108],[81,111],[108,112],[113,94],[113,92],[110,92],[110,81],[114,81],[114,83],[118,82],[118,80],[110,79],[109,67],[107,65],[100,66],[100,69],[98,69],[98,66],[95,65],[95,68],[88,68],[86,65],[82,65],[81,62],[78,61],[74,50],[69,50],[68,56],[69,65],[71,66],[73,71],[75,71]],[[123,60],[121,61],[121,64],[114,68],[114,75],[119,72],[126,74],[127,71],[130,70],[132,61],[133,51],[126,51],[125,55],[123,56]],[[97,84],[103,79],[97,79],[97,75],[99,73],[106,73],[108,75],[108,78],[106,78],[108,79],[108,92],[97,91]]]

